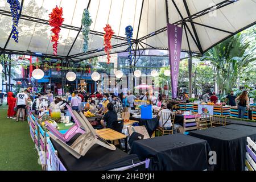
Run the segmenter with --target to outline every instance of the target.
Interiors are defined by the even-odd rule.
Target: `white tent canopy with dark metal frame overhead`
[[[134,49],[168,49],[166,24],[183,26],[183,51],[204,53],[215,44],[255,24],[255,0],[20,0],[19,43],[10,39],[10,5],[0,0],[1,53],[81,61],[105,55],[103,28],[112,26],[112,53],[125,52],[125,27],[133,26]],[[48,14],[63,7],[57,56],[53,56]],[[87,53],[82,51],[81,18],[88,7],[93,23]],[[167,20],[168,19],[168,20]]]

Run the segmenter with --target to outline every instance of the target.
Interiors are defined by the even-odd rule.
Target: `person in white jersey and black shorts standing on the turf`
[[[16,105],[15,107],[17,108],[17,119],[16,121],[19,121],[19,115],[20,115],[20,111],[22,111],[22,121],[25,121],[25,109],[27,106],[27,96],[28,90],[24,90],[22,93],[18,93],[16,96]]]

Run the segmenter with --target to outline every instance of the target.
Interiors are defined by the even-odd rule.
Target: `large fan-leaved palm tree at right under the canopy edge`
[[[255,61],[255,42],[245,34],[237,34],[206,52],[203,60],[210,61],[220,94],[229,93],[238,77]]]

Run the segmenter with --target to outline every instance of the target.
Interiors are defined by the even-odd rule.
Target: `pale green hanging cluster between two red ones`
[[[87,9],[84,9],[84,13],[82,14],[82,36],[84,38],[83,50],[85,53],[88,51],[89,33],[90,33],[91,24],[92,24],[92,18],[90,18],[90,13]]]

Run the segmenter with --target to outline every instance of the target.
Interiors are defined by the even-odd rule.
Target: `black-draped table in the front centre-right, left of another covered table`
[[[208,168],[207,141],[184,134],[165,135],[133,142],[131,154],[150,158],[149,170],[204,170]]]

